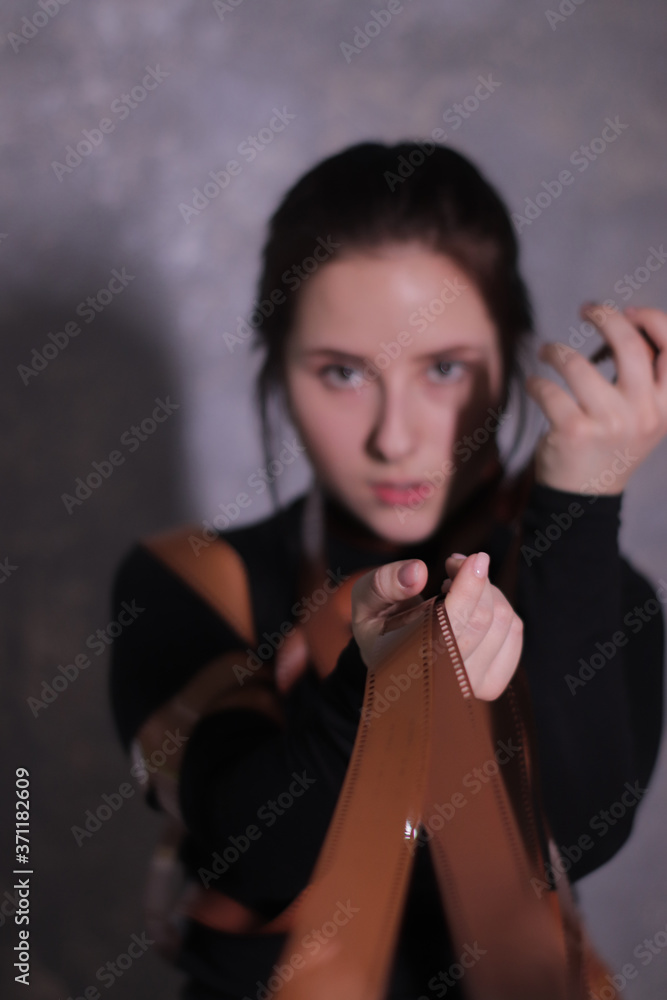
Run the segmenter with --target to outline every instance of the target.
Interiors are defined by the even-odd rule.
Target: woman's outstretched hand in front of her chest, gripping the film
[[[523,642],[523,622],[505,595],[488,578],[485,552],[452,555],[445,564],[449,579],[442,590],[454,637],[476,698],[493,701],[516,670]],[[428,571],[421,559],[386,563],[356,581],[352,588],[352,632],[366,666],[375,659],[376,640],[387,617],[419,604]]]

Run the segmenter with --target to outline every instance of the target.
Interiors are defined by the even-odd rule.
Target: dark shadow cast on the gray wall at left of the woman
[[[141,885],[160,823],[111,720],[109,590],[132,541],[183,521],[187,510],[180,381],[159,346],[164,296],[149,267],[119,268],[112,241],[99,242],[104,254],[80,246],[35,260],[32,286],[15,287],[0,307],[0,407],[9,431],[1,445],[0,794],[11,803],[16,769],[28,769],[24,869],[34,874],[24,926],[31,995],[40,1000],[105,995],[115,981],[107,963],[145,931]],[[119,796],[123,784],[131,791]],[[75,836],[72,827],[85,830],[105,803],[105,820]],[[13,846],[0,853],[12,859]],[[0,946],[9,995],[23,996],[12,968],[19,876],[11,864],[0,881]],[[124,997],[176,996],[175,973],[153,952],[123,973]]]

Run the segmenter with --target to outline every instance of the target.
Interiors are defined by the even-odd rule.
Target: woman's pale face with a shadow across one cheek
[[[319,480],[387,540],[426,539],[495,455],[496,327],[458,265],[421,244],[359,251],[315,272],[300,291],[285,375]]]

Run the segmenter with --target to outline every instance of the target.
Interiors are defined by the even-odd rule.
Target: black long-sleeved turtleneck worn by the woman
[[[492,518],[484,496],[477,499],[476,525],[484,530],[476,548],[489,552],[491,581],[497,582],[512,535]],[[248,571],[258,636],[276,633],[294,617],[303,507],[299,498],[259,524],[225,533]],[[335,507],[327,502],[326,558],[332,570],[347,574],[418,556],[432,571],[429,586],[439,589],[442,552],[436,559],[430,544],[394,552],[364,544],[359,525],[338,517]],[[533,485],[518,538],[513,602],[525,626],[521,663],[534,706],[543,798],[558,845],[586,844],[571,878],[599,867],[625,842],[660,738],[661,602],[667,600],[667,584],[661,583],[656,600],[647,581],[620,556],[620,507],[621,497],[590,503],[578,494]],[[457,539],[475,537],[464,521],[443,543],[444,555],[474,551],[457,546]],[[113,649],[112,703],[127,747],[152,712],[200,667],[246,644],[141,546],[117,575],[116,607],[123,600],[146,609]],[[290,690],[284,729],[238,709],[199,723],[188,741],[180,783],[190,833],[184,859],[195,877],[198,868],[210,868],[229,838],[243,836],[254,824],[261,836],[216,879],[213,890],[272,916],[305,886],[343,782],[365,677],[351,640],[326,680],[307,671]],[[287,792],[295,775],[307,791],[278,814],[270,803]],[[636,789],[634,801],[628,786]],[[626,803],[622,815],[621,807],[614,808],[619,802]],[[254,1000],[283,941],[283,935],[222,935],[191,923],[181,964],[208,984],[211,992],[202,997]],[[392,1000],[431,995],[437,974],[453,960],[424,848],[416,858]]]

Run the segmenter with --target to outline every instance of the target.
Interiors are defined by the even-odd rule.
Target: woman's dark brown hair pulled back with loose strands
[[[309,170],[287,192],[269,225],[257,290],[265,307],[263,312],[256,309],[252,318],[253,346],[266,352],[257,396],[267,459],[269,402],[283,389],[285,344],[298,290],[312,273],[310,262],[326,266],[342,254],[408,241],[420,241],[452,258],[479,289],[499,333],[501,405],[506,404],[512,379],[520,375],[518,348],[533,324],[505,205],[476,167],[446,146],[360,143]],[[318,247],[321,265],[313,256]],[[523,403],[522,393],[520,399]],[[523,422],[522,406],[514,447]]]

